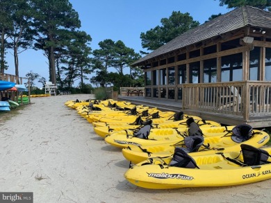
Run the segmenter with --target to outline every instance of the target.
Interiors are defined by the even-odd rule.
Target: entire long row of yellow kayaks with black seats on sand
[[[117,100],[65,105],[92,123],[106,143],[122,148],[131,163],[124,177],[136,186],[231,186],[271,178],[271,148],[261,149],[270,136],[249,125],[221,126]]]

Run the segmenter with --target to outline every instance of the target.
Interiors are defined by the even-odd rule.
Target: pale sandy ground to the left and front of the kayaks
[[[33,192],[34,202],[271,202],[271,180],[220,188],[149,190],[124,179],[129,162],[108,145],[67,100],[31,98],[0,123],[0,191]],[[231,178],[231,177],[229,177]]]

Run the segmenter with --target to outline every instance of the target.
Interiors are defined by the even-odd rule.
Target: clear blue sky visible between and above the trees
[[[81,28],[92,37],[92,51],[99,48],[104,39],[121,40],[136,53],[143,51],[140,33],[161,26],[161,19],[169,18],[173,11],[188,12],[193,20],[204,24],[211,15],[227,13],[227,6],[219,6],[219,0],[69,0],[79,13]],[[8,70],[15,75],[12,51],[6,56]],[[42,51],[28,49],[19,54],[19,76],[32,71],[49,80],[47,58]],[[77,83],[75,83],[76,86]],[[35,82],[35,86],[41,87]]]

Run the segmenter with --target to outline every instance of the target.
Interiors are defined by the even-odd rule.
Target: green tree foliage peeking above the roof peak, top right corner
[[[220,6],[227,5],[227,8],[238,8],[242,6],[253,6],[263,10],[271,10],[270,0],[220,0]]]

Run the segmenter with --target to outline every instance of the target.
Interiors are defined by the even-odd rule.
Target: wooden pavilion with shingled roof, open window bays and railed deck
[[[132,64],[145,98],[227,125],[271,125],[271,12],[236,8]]]

